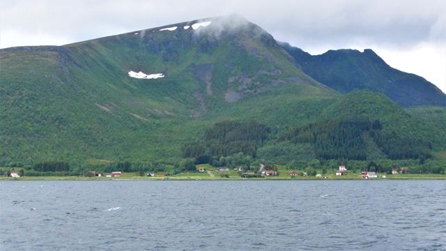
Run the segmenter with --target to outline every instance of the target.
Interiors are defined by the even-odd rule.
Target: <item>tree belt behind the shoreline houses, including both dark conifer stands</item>
[[[410,172],[415,173],[445,172],[441,161],[433,158],[429,143],[383,130],[378,119],[325,119],[282,131],[254,120],[221,121],[203,130],[201,137],[183,144],[180,157],[168,162],[117,161],[81,166],[48,161],[16,169],[24,169],[29,176],[84,175],[90,170],[145,176],[148,171],[166,175],[195,172],[200,164],[256,172],[263,163],[314,173],[315,169],[336,169],[348,163],[354,172],[366,169],[388,173],[402,165],[410,165]],[[0,174],[5,172],[0,169]]]

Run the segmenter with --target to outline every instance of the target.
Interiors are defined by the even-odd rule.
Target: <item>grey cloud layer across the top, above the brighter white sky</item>
[[[153,26],[238,13],[293,43],[420,43],[446,40],[446,5],[431,1],[25,1],[1,3],[1,29],[75,42]],[[287,39],[289,38],[289,39]]]

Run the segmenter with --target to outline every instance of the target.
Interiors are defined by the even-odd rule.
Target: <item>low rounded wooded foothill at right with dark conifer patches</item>
[[[445,148],[444,128],[438,128],[436,122],[426,125],[383,94],[353,91],[346,96],[313,102],[317,105],[306,102],[313,113],[306,112],[304,107],[289,107],[286,116],[293,119],[287,120],[286,126],[282,126],[281,120],[286,117],[282,112],[272,112],[275,115],[270,116],[275,119],[257,119],[263,123],[259,126],[255,126],[250,116],[245,116],[246,124],[216,123],[202,138],[186,144],[183,155],[201,159],[206,155],[216,157],[241,151],[286,164],[296,160],[296,156],[300,161],[426,159],[432,157],[432,149]],[[264,126],[269,128],[267,136],[261,142],[253,141],[250,132]],[[234,127],[239,129],[228,129]],[[265,133],[261,130],[257,135]]]

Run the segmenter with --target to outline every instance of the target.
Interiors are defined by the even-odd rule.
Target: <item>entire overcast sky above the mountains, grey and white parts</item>
[[[63,45],[232,13],[311,54],[371,48],[446,92],[445,0],[2,0],[0,48]]]

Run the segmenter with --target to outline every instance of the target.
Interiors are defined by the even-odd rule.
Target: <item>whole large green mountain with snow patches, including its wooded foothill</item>
[[[424,126],[419,112],[374,91],[345,95],[297,61],[236,15],[0,50],[0,167],[59,163],[79,173],[110,163],[211,161],[240,151],[282,164],[399,161],[446,148],[441,120]],[[291,137],[301,131],[327,137]],[[336,155],[318,150],[344,143]],[[403,145],[408,154],[396,150]],[[367,149],[350,155],[357,146]]]

